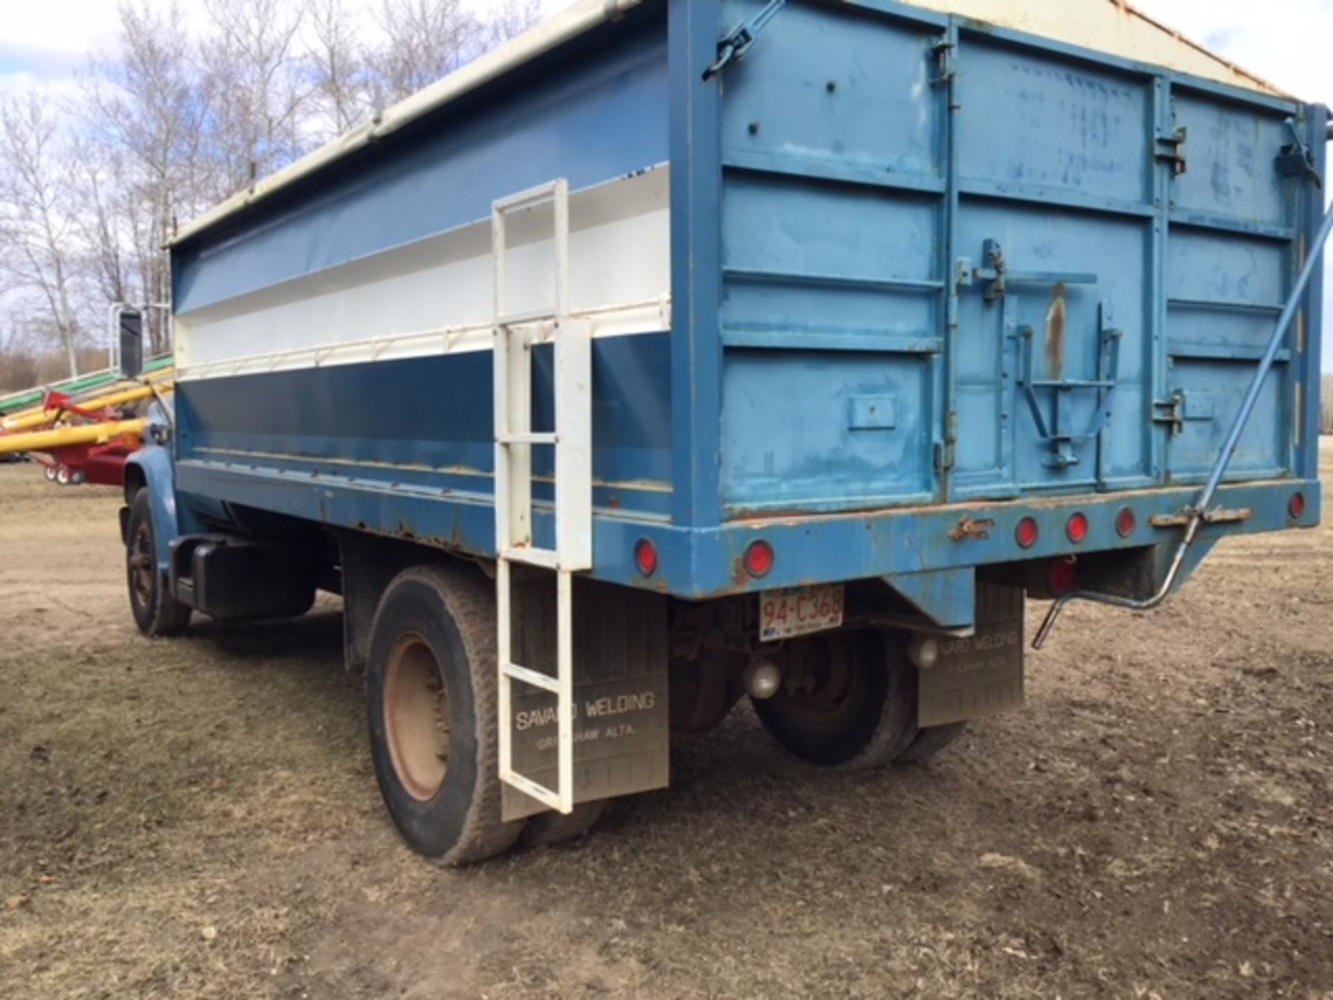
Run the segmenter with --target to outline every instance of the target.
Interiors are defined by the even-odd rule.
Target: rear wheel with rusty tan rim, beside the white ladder
[[[367,665],[371,755],[393,825],[436,864],[507,851],[500,819],[495,597],[453,567],[415,567],[384,592]]]

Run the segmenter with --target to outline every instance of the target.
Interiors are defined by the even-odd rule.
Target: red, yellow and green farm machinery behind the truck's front
[[[121,485],[143,445],[144,413],[173,389],[172,357],[143,360],[143,315],[113,312],[117,363],[101,372],[0,397],[0,461],[29,456],[60,485]]]

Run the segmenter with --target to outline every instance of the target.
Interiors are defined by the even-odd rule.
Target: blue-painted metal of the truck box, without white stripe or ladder
[[[1326,111],[888,0],[789,3],[705,81],[761,7],[645,4],[205,231],[177,309],[669,160],[673,328],[596,341],[595,576],[757,589],[737,560],[764,537],[765,588],[890,577],[942,621],[977,567],[1068,555],[1074,509],[1080,551],[1173,541],[1150,519],[1208,475],[1318,225],[1277,163],[1296,135],[1324,173]],[[1218,497],[1252,516],[1205,541],[1318,520],[1321,301],[1316,277]],[[536,372],[541,427],[549,353]],[[483,352],[183,383],[183,504],[492,555],[491,379]]]

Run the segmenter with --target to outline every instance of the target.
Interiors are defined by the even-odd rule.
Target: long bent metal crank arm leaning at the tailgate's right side
[[[1176,577],[1180,576],[1180,569],[1185,564],[1185,555],[1189,552],[1189,547],[1194,544],[1194,539],[1198,536],[1198,529],[1208,523],[1208,509],[1213,503],[1213,497],[1217,495],[1217,488],[1221,485],[1222,477],[1226,476],[1226,468],[1232,464],[1232,456],[1236,453],[1236,447],[1240,444],[1241,435],[1245,432],[1245,425],[1249,423],[1250,415],[1254,412],[1254,404],[1258,403],[1260,392],[1264,389],[1264,380],[1273,368],[1277,352],[1282,348],[1282,341],[1286,339],[1286,331],[1290,328],[1292,320],[1296,319],[1296,313],[1301,307],[1305,287],[1310,283],[1310,276],[1314,273],[1314,268],[1324,256],[1324,244],[1328,243],[1329,232],[1333,232],[1333,208],[1330,208],[1324,216],[1324,223],[1320,225],[1320,231],[1314,237],[1314,245],[1310,247],[1310,255],[1305,260],[1305,268],[1301,271],[1301,276],[1296,280],[1296,287],[1292,288],[1292,293],[1286,299],[1286,305],[1282,308],[1282,315],[1277,320],[1273,336],[1269,337],[1268,349],[1264,351],[1264,357],[1258,364],[1258,369],[1254,372],[1254,379],[1250,381],[1249,391],[1245,393],[1245,400],[1241,403],[1241,408],[1236,413],[1236,419],[1232,421],[1232,429],[1226,433],[1226,443],[1222,444],[1222,451],[1218,453],[1217,461],[1213,463],[1213,471],[1208,476],[1204,492],[1198,495],[1198,501],[1189,511],[1186,511],[1189,520],[1185,523],[1185,535],[1180,540],[1180,547],[1176,549],[1174,557],[1172,557],[1170,567],[1166,571],[1162,585],[1157,588],[1157,593],[1146,600],[1117,597],[1109,593],[1093,593],[1089,591],[1073,591],[1066,593],[1062,597],[1056,599],[1054,604],[1050,605],[1050,611],[1046,612],[1045,621],[1041,623],[1041,628],[1037,629],[1036,639],[1032,640],[1033,649],[1040,649],[1046,644],[1046,639],[1050,636],[1050,631],[1056,627],[1056,620],[1060,617],[1060,612],[1064,611],[1065,605],[1070,601],[1084,600],[1093,601],[1096,604],[1110,604],[1114,608],[1126,608],[1129,611],[1150,611],[1166,600],[1166,595],[1169,595],[1172,588],[1176,585]]]

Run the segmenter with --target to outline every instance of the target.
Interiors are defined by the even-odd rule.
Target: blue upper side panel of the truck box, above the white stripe
[[[584,188],[666,161],[665,39],[655,23],[461,119],[388,139],[227,239],[175,253],[175,307],[205,305],[485,219],[499,197]],[[455,112],[456,113],[456,112]],[[275,203],[277,204],[277,203]]]

